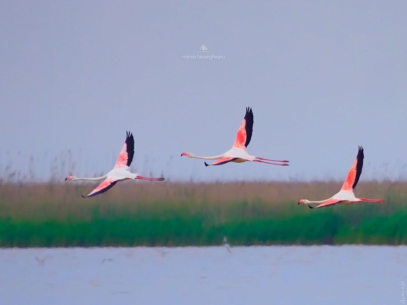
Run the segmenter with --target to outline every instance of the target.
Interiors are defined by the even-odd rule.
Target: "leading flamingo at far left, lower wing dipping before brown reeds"
[[[77,178],[74,176],[68,176],[65,180],[90,180],[90,181],[98,181],[104,180],[101,184],[96,187],[92,192],[89,193],[87,196],[82,196],[83,198],[96,196],[98,194],[104,193],[108,189],[111,189],[118,181],[124,181],[128,179],[140,179],[140,180],[152,180],[152,181],[163,181],[164,178],[148,178],[138,176],[138,173],[131,173],[128,169],[133,161],[134,155],[134,138],[133,134],[130,132],[126,132],[126,141],[120,151],[119,158],[116,162],[114,168],[109,171],[106,175],[96,178]]]

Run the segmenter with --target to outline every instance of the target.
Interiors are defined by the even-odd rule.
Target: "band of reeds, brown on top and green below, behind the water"
[[[0,246],[407,244],[407,183],[359,182],[380,204],[298,206],[340,182],[1,184]]]

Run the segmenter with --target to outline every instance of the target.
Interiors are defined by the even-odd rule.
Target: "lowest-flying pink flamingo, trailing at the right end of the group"
[[[317,203],[319,205],[315,206],[315,208],[322,208],[324,206],[332,206],[337,203],[352,204],[354,202],[384,202],[383,199],[357,198],[353,193],[353,190],[356,187],[357,182],[359,181],[360,174],[362,173],[363,158],[363,147],[359,146],[358,154],[353,162],[352,168],[348,173],[348,177],[346,178],[344,185],[338,193],[326,200],[321,201],[309,201],[306,199],[301,199],[298,204],[308,204],[309,208],[313,208],[309,204]]]

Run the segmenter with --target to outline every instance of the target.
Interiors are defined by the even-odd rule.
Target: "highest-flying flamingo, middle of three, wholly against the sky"
[[[250,156],[247,151],[246,147],[250,143],[250,139],[252,138],[252,132],[253,132],[253,111],[252,108],[247,107],[246,108],[246,114],[245,117],[243,118],[243,121],[240,125],[239,130],[237,131],[237,136],[236,140],[234,141],[234,144],[231,149],[226,151],[225,153],[218,155],[218,156],[212,156],[212,157],[200,157],[200,156],[194,156],[191,153],[188,152],[183,152],[181,156],[187,156],[188,158],[198,158],[198,159],[205,159],[205,160],[217,160],[213,162],[210,165],[222,165],[228,162],[237,162],[237,163],[242,163],[246,161],[254,161],[254,162],[261,162],[261,163],[267,163],[267,164],[273,164],[273,165],[283,165],[287,166],[289,164],[285,162],[289,162],[287,160],[271,160],[271,159],[265,159],[265,158],[260,158],[256,156]],[[257,159],[257,160],[256,160]],[[267,161],[273,161],[273,162],[284,162],[282,164],[279,163],[271,163],[271,162],[265,162],[262,160],[267,160]],[[204,162],[206,166],[209,166],[206,162]]]

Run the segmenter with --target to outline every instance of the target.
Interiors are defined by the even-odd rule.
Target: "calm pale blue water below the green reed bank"
[[[400,304],[407,246],[0,249],[1,304]]]

